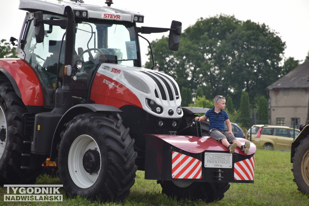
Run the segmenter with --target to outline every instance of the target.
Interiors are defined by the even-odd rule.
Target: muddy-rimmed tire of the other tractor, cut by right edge
[[[304,194],[309,194],[309,136],[301,140],[296,147],[292,162],[293,181],[298,186],[297,189]]]

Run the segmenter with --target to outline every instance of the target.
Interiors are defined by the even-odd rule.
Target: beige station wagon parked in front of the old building
[[[252,135],[252,142],[256,147],[265,149],[291,149],[292,142],[299,133],[300,130],[296,128],[264,125],[258,129],[255,137]]]

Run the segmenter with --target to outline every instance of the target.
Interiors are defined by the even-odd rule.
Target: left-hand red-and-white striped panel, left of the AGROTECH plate
[[[173,151],[172,178],[201,179],[202,162],[198,159]]]

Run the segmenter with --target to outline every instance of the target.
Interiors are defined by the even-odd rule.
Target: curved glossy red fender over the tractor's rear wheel
[[[44,106],[40,82],[26,61],[13,58],[0,59],[0,67],[14,78],[26,106]]]

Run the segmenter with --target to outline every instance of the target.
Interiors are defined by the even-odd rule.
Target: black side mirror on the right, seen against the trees
[[[179,49],[181,25],[181,22],[175,20],[171,23],[170,35],[168,37],[168,48],[172,51],[178,51]]]

